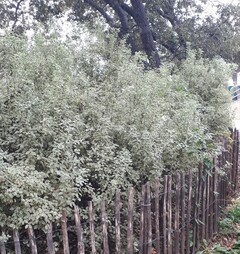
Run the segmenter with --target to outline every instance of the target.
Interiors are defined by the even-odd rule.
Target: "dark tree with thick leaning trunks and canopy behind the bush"
[[[145,52],[151,67],[165,59],[185,59],[188,45],[208,58],[220,56],[239,64],[239,5],[218,5],[217,13],[207,17],[204,6],[204,0],[5,0],[0,15],[1,27],[11,26],[18,33],[28,27],[29,16],[46,26],[66,12],[69,19],[89,27],[100,20],[126,39],[133,54]]]

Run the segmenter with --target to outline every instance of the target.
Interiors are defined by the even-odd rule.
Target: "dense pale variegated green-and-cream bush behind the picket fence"
[[[0,222],[57,218],[76,198],[111,197],[218,150],[231,66],[189,52],[146,71],[122,45],[0,39]]]

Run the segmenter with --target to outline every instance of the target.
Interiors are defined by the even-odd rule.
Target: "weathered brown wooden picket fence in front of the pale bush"
[[[74,208],[74,222],[71,224],[74,223],[74,245],[69,241],[73,232],[69,236],[69,222],[66,211],[63,211],[59,251],[55,251],[53,224],[50,224],[48,232],[44,233],[45,241],[41,242],[31,227],[27,229],[29,249],[26,251],[25,246],[24,252],[21,249],[23,240],[19,236],[21,231],[13,230],[12,238],[0,243],[1,254],[8,253],[11,246],[16,254],[194,254],[203,239],[209,240],[217,232],[221,211],[237,190],[238,131],[232,132],[232,140],[231,143],[225,141],[222,154],[214,158],[210,166],[200,165],[198,172],[165,175],[163,183],[156,180],[151,185],[148,182],[142,186],[140,196],[133,187],[129,188],[127,199],[116,191],[111,219],[107,214],[108,203],[102,201],[98,214],[98,221],[101,221],[100,245],[96,244],[96,214],[93,203],[89,201],[88,220],[81,221],[81,209]],[[125,209],[123,199],[127,203]],[[110,223],[114,228],[111,232]],[[83,224],[88,227],[87,235]],[[39,251],[40,245],[45,245],[44,251]]]

